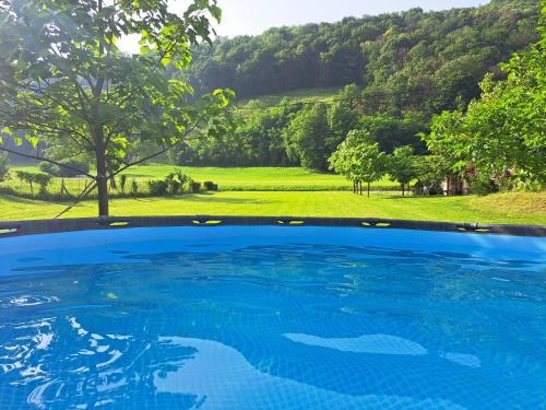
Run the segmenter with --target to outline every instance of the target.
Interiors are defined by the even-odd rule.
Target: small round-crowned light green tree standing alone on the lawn
[[[337,151],[329,160],[330,169],[344,175],[353,181],[353,191],[363,194],[363,183],[367,184],[368,198],[371,183],[379,180],[385,173],[387,154],[371,136],[361,130],[352,130]]]

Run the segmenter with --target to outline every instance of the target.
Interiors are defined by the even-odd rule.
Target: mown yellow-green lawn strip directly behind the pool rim
[[[0,220],[49,219],[66,204],[0,196]],[[401,197],[346,191],[224,191],[170,198],[111,200],[112,215],[294,215],[370,216],[482,223],[546,224],[546,194],[499,194],[487,197]],[[95,216],[86,201],[67,218]]]

